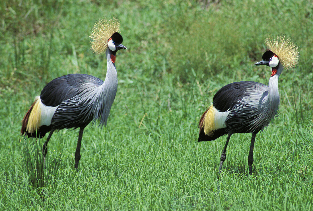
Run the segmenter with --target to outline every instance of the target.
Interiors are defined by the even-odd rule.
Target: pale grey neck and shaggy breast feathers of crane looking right
[[[85,77],[83,85],[77,90],[79,94],[61,104],[65,107],[58,107],[60,114],[66,110],[66,117],[72,120],[70,124],[64,123],[62,128],[77,127],[77,124],[88,125],[90,121],[99,121],[100,127],[106,124],[117,91],[117,73],[110,56],[106,50],[107,71],[103,83],[93,76]],[[72,109],[68,109],[68,106]],[[63,117],[64,115],[54,114],[54,119],[58,121],[64,122]]]

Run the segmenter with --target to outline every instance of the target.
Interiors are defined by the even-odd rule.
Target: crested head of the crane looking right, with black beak
[[[90,48],[96,54],[101,54],[109,48],[110,54],[115,55],[120,49],[127,49],[122,45],[123,37],[118,31],[121,28],[117,18],[99,18],[90,32]]]

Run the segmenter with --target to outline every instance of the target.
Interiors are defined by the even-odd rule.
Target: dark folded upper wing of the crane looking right
[[[103,81],[85,74],[63,75],[50,81],[40,93],[41,102],[46,106],[58,106],[63,101],[73,98],[78,94],[78,88],[86,81],[93,80],[96,84]]]

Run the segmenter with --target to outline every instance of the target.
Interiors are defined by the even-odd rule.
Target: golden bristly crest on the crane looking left
[[[299,47],[290,38],[285,39],[285,36],[274,37],[271,35],[265,39],[264,43],[268,50],[278,56],[284,68],[293,68],[298,64],[300,55]]]

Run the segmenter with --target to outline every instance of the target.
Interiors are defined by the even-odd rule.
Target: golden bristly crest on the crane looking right
[[[108,47],[108,39],[110,39],[113,33],[118,32],[120,28],[121,24],[115,17],[110,19],[99,18],[90,32],[90,49],[95,54],[103,53]]]

